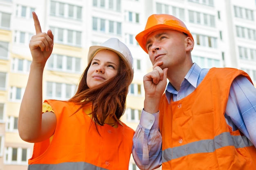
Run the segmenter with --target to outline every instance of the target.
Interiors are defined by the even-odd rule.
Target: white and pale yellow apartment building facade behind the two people
[[[192,58],[202,68],[245,70],[256,84],[255,0],[0,0],[0,170],[26,170],[33,144],[18,135],[19,106],[27,84],[36,11],[42,31],[54,33],[43,77],[43,99],[69,99],[87,65],[88,49],[119,38],[134,57],[134,79],[122,121],[136,129],[144,103],[143,76],[152,69],[135,35],[153,13],[186,23],[195,40]],[[159,168],[161,169],[161,168]],[[138,170],[131,157],[129,170]]]

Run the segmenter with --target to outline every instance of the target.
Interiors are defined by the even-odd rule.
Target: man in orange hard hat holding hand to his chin
[[[136,40],[153,64],[144,76],[144,109],[133,137],[137,166],[256,169],[256,89],[249,75],[193,63],[193,36],[172,15],[151,15]]]

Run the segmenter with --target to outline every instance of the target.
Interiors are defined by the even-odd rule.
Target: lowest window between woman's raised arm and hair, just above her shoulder
[[[74,95],[75,84],[64,84],[57,82],[46,83],[46,96],[51,99],[70,99]]]

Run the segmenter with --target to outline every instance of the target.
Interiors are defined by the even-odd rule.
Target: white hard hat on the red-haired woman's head
[[[130,83],[131,83],[133,79],[133,73],[134,73],[132,54],[128,49],[128,47],[117,38],[110,38],[99,46],[90,46],[90,49],[88,52],[88,63],[92,60],[92,57],[94,57],[94,55],[98,51],[104,50],[104,49],[114,51],[115,53],[117,53],[117,55],[121,57],[122,60],[125,61],[125,63],[128,65],[132,73],[131,79],[130,79]]]

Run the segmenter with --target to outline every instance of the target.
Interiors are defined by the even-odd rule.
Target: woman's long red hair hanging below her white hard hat
[[[75,95],[68,100],[69,102],[74,102],[76,105],[81,105],[79,110],[88,104],[92,104],[92,120],[95,124],[101,126],[108,116],[118,121],[125,111],[126,96],[132,73],[121,57],[119,59],[120,63],[117,75],[94,88],[89,88],[86,82],[91,60],[81,75]]]

